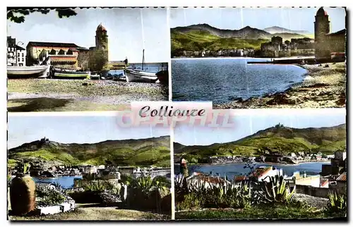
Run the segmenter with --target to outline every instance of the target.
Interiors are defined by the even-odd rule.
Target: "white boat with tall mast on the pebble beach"
[[[127,82],[156,82],[158,80],[155,73],[149,73],[143,70],[145,66],[145,50],[143,50],[142,69],[126,69],[124,70]]]

